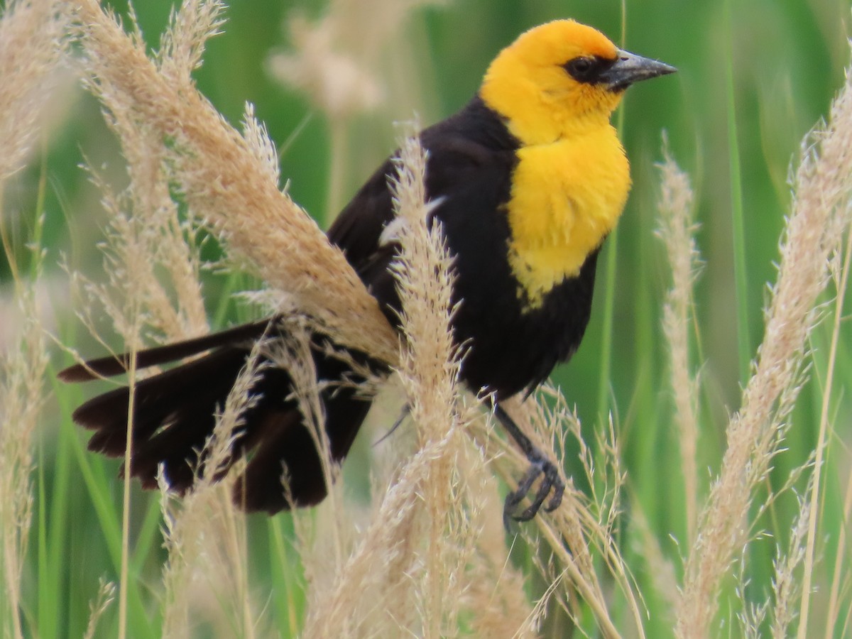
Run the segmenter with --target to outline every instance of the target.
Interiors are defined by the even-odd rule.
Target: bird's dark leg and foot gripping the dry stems
[[[530,521],[533,519],[551,491],[550,502],[544,506],[544,510],[551,512],[559,508],[559,504],[562,503],[562,494],[565,492],[565,482],[562,481],[556,465],[550,459],[546,458],[543,452],[538,450],[527,435],[523,434],[515,423],[515,420],[509,417],[509,413],[505,412],[499,404],[494,404],[494,415],[503,424],[506,432],[515,440],[530,463],[527,473],[518,482],[517,490],[509,492],[506,495],[503,507],[503,523],[506,530],[509,530],[509,524],[513,519],[515,521]],[[533,487],[533,483],[535,483],[539,475],[544,476],[542,477],[541,486],[538,486],[538,491],[533,498],[533,503],[521,513],[517,513],[518,506],[523,501],[523,498],[527,496],[527,492]]]

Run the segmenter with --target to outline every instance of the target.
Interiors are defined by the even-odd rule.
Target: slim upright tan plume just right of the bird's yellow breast
[[[663,333],[669,346],[671,391],[681,452],[683,492],[686,500],[687,547],[695,538],[698,518],[699,382],[689,367],[689,326],[693,305],[693,285],[699,273],[699,253],[695,247],[693,199],[689,176],[671,158],[664,141],[659,199],[659,236],[665,242],[671,266],[671,289],[663,308]]]

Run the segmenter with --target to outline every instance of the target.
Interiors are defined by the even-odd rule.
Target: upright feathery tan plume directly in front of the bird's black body
[[[452,343],[452,258],[440,224],[426,201],[426,152],[416,137],[400,145],[398,176],[391,181],[400,222],[396,264],[406,348],[398,372],[411,407],[421,450],[435,448],[417,491],[428,521],[423,581],[419,592],[424,636],[453,628],[460,592],[458,573],[470,554],[472,536],[458,486],[463,434],[458,414],[459,360]]]

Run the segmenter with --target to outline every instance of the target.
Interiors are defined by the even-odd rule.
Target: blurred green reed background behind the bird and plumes
[[[126,4],[111,5],[126,15]],[[135,6],[152,47],[167,23],[170,5],[147,0]],[[665,251],[654,236],[659,196],[654,164],[662,158],[662,132],[667,132],[671,154],[694,183],[699,250],[705,262],[695,300],[700,337],[694,343],[694,365],[702,368],[705,389],[698,463],[699,469],[709,469],[700,475],[705,494],[724,448],[726,417],[739,405],[749,355],[738,343],[747,343],[747,353],[753,356],[762,336],[761,308],[767,282],[774,279],[780,232],[791,205],[790,167],[797,163],[803,136],[827,113],[832,95],[843,82],[843,66],[849,60],[849,2],[635,0],[623,7],[614,1],[447,0],[442,6],[413,10],[383,43],[371,73],[383,84],[384,99],[371,112],[354,113],[343,124],[337,123],[338,131],[343,131],[337,138],[322,110],[268,71],[269,56],[287,51],[290,45],[287,17],[297,12],[318,20],[326,8],[326,3],[307,0],[234,2],[227,9],[223,34],[210,41],[204,66],[196,73],[201,92],[233,124],[239,124],[246,101],[255,105],[257,118],[279,145],[282,176],[290,183],[291,195],[323,225],[329,209],[336,208],[335,200],[337,204],[345,201],[393,151],[394,121],[417,113],[422,124],[431,124],[462,107],[477,89],[488,61],[531,26],[573,17],[598,27],[625,49],[678,67],[676,76],[630,89],[619,113],[619,128],[633,167],[633,192],[599,267],[590,329],[573,361],[555,377],[569,403],[578,407],[589,432],[602,423],[602,416],[613,412],[630,475],[625,506],[628,511],[632,504],[641,506],[666,556],[677,565],[677,557],[687,549],[677,548],[669,535],[685,538],[682,480],[671,424],[666,348],[659,330],[669,274]],[[357,48],[359,37],[366,40],[371,34],[354,34],[347,46]],[[46,178],[43,243],[49,257],[45,282],[52,291],[63,291],[67,276],[56,266],[61,255],[67,256],[72,268],[93,279],[103,278],[95,244],[107,216],[78,164],[85,157],[89,164],[105,167],[118,184],[124,178],[118,146],[91,96],[66,86],[53,110],[54,124],[43,140],[43,153],[7,187],[5,210],[22,212],[4,223],[20,240],[19,259],[26,263],[23,242],[32,228],[30,212],[36,210],[39,181]],[[332,153],[340,153],[338,158],[343,159],[342,187],[337,194],[329,193]],[[746,248],[741,273],[745,290],[735,284],[734,211],[738,209]],[[0,278],[9,279],[3,262]],[[228,324],[245,316],[239,304],[224,297],[239,283],[209,273],[205,278],[210,314],[218,322]],[[607,291],[612,296],[611,314],[606,310]],[[73,328],[72,308],[63,305],[66,296],[52,297],[57,334],[83,354],[100,354],[100,347]],[[746,325],[738,321],[738,308],[740,314],[746,311]],[[824,370],[820,364],[824,366],[827,336],[826,330],[815,335],[816,371]],[[848,387],[852,373],[849,337],[847,325],[838,388]],[[91,391],[84,392],[88,396]],[[68,636],[79,634],[98,577],[115,574],[110,553],[103,548],[101,527],[90,515],[89,496],[78,481],[80,442],[85,437],[67,419],[69,409],[83,398],[83,390],[57,389],[56,396],[41,433],[37,469],[37,518],[42,525],[37,535],[41,538],[33,538],[31,544],[34,560],[26,590],[31,617],[43,637],[66,636],[66,631]],[[783,483],[790,469],[803,463],[815,446],[820,400],[819,384],[809,384],[792,420],[789,450],[776,460],[776,484]],[[826,562],[836,552],[832,544],[841,526],[842,480],[849,463],[845,450],[848,401],[838,403],[836,415],[835,436],[840,445],[829,459],[821,529]],[[89,463],[96,481],[110,486],[118,504],[120,485],[112,479],[118,464]],[[54,501],[57,486],[76,486],[67,490],[60,505]],[[134,500],[135,542],[147,544],[147,550],[136,549],[141,550],[136,567],[142,581],[156,588],[163,558],[157,511],[136,493]],[[774,544],[785,541],[795,513],[794,498],[780,499],[770,514],[771,521],[779,524],[772,526],[779,538],[757,544],[751,551],[749,561],[755,568],[748,596],[755,600],[766,596]],[[634,550],[627,542],[635,533],[630,533],[629,512],[624,519],[625,554],[630,558]],[[758,527],[769,525],[764,521]],[[287,528],[286,523],[283,526]],[[264,567],[268,541],[263,521],[257,522],[256,529],[261,532],[252,536],[252,568],[262,573],[268,569]],[[55,563],[39,564],[38,553],[58,555]],[[68,561],[62,561],[63,556]],[[45,565],[67,569],[61,574],[37,574],[46,570]],[[642,585],[641,568],[636,570]],[[41,609],[49,596],[59,599],[54,620]],[[647,598],[653,611],[648,635],[667,636],[671,623],[662,613],[664,604],[653,594]],[[148,621],[149,628],[141,627],[135,636],[152,633],[158,627],[155,617]]]

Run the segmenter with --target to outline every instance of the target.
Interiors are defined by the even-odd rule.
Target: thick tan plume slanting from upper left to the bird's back
[[[253,146],[251,136],[225,123],[188,74],[148,59],[95,0],[77,4],[90,86],[113,115],[124,112],[158,135],[193,214],[248,257],[270,285],[295,296],[298,308],[337,341],[394,361],[393,329],[343,254],[271,179],[277,170],[270,168],[269,147]]]

